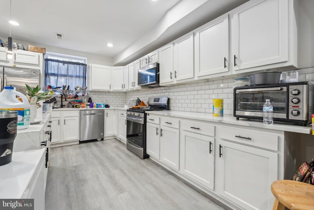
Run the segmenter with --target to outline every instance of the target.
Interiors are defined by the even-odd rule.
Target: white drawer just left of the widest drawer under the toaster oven
[[[215,126],[204,122],[181,120],[181,129],[208,136],[215,135]]]

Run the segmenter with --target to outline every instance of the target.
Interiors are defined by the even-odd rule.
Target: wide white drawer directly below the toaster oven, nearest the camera
[[[278,150],[278,135],[256,131],[254,129],[248,130],[216,126],[216,136],[224,140],[252,145],[268,150]]]

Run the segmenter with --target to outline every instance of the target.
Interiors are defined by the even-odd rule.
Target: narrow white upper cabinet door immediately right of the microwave
[[[173,82],[173,44],[168,44],[159,49],[160,55],[160,72],[159,81],[160,83]]]

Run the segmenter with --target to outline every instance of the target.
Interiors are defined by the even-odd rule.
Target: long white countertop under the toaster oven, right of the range
[[[232,115],[226,115],[224,117],[215,117],[211,113],[197,113],[197,112],[183,112],[183,111],[147,111],[146,113],[160,115],[164,117],[176,117],[185,118],[190,120],[203,120],[208,122],[221,122],[225,124],[243,125],[249,127],[258,127],[271,130],[289,131],[295,133],[311,134],[312,126],[301,126],[296,124],[284,123],[275,121],[272,125],[264,125],[261,120],[249,120],[240,118],[236,120]]]

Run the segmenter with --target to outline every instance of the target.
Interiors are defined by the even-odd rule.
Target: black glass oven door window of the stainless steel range
[[[139,147],[144,146],[144,124],[127,120],[127,139]]]

